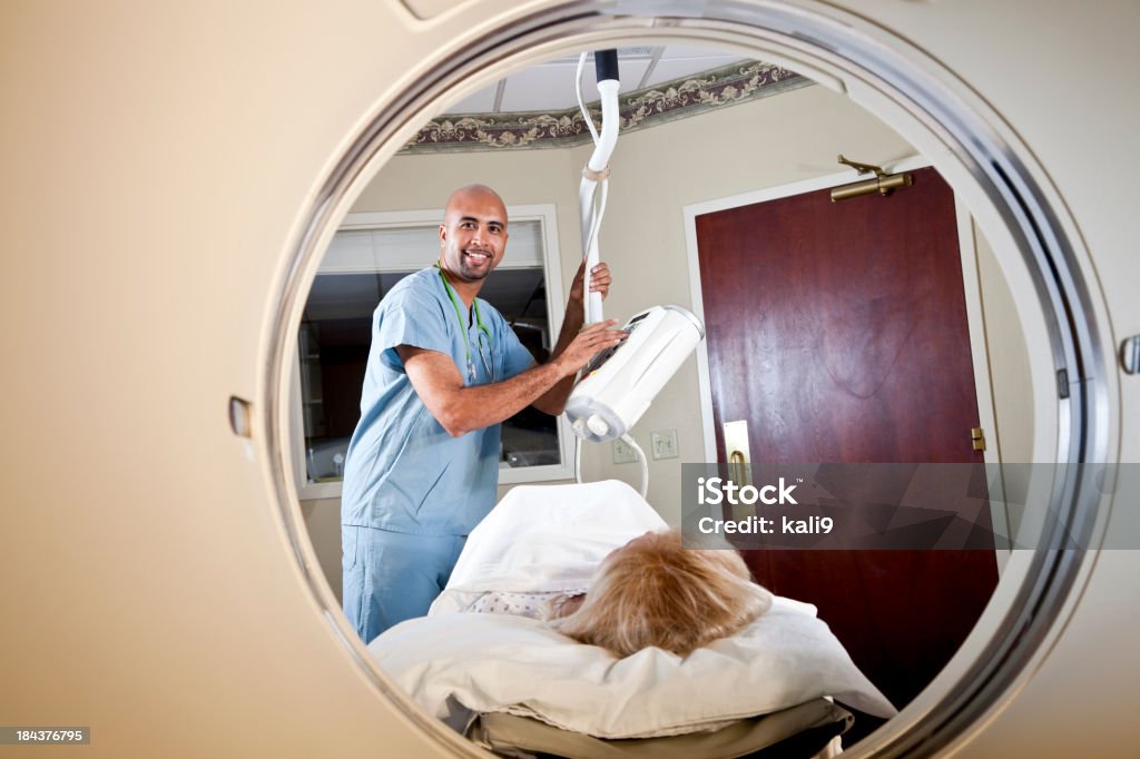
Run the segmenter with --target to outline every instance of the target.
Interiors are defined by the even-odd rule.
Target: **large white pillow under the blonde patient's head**
[[[741,632],[685,659],[645,648],[619,660],[506,614],[408,620],[368,651],[413,700],[461,733],[475,712],[504,711],[604,738],[676,735],[819,696],[879,717],[896,713],[814,607],[780,597]]]

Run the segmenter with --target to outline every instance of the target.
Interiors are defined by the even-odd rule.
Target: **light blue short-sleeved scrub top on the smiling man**
[[[462,311],[463,301],[456,300]],[[396,352],[397,345],[414,345],[450,356],[469,386],[491,382],[488,365],[502,382],[534,364],[495,307],[479,300],[479,313],[492,337],[488,348],[482,336],[482,356],[479,327],[473,318],[461,327],[435,268],[405,277],[376,307],[360,422],[344,462],[342,524],[464,536],[495,505],[500,425],[449,435],[420,400]]]

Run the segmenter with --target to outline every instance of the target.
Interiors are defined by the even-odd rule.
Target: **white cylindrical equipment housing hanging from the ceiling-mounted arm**
[[[624,327],[629,337],[595,356],[567,400],[575,434],[601,442],[624,435],[705,337],[689,309],[654,305]]]

